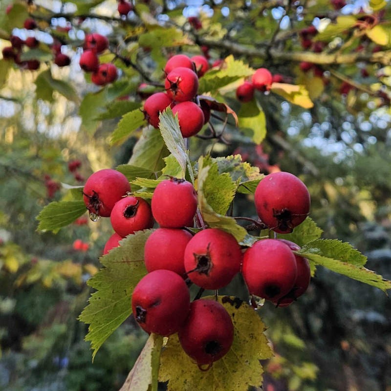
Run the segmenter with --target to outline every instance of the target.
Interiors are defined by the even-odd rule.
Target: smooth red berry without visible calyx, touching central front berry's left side
[[[158,228],[152,232],[144,247],[144,261],[148,272],[166,269],[185,277],[183,256],[193,235],[178,228]]]

